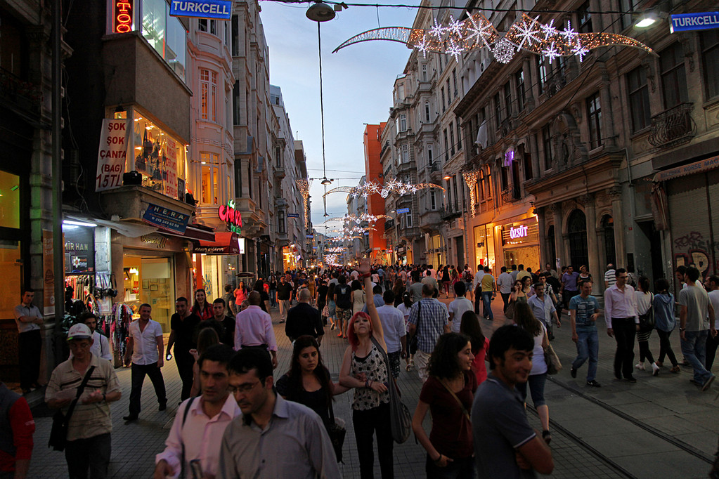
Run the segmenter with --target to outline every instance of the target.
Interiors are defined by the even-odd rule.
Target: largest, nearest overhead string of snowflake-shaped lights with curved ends
[[[434,25],[429,29],[385,27],[368,30],[342,42],[333,53],[349,45],[370,40],[401,42],[408,48],[416,48],[424,57],[427,56],[427,52],[433,52],[453,55],[455,59],[459,59],[459,55],[464,52],[487,48],[502,63],[510,62],[516,52],[521,50],[544,55],[549,58],[549,63],[554,58],[572,55],[579,57],[581,62],[590,50],[613,45],[654,53],[644,43],[625,35],[604,32],[580,33],[572,29],[570,22],[567,22],[567,27],[560,30],[554,27],[554,19],[549,24],[542,24],[539,23],[539,16],[532,18],[526,13],[518,17],[504,35],[501,35],[480,13],[473,14],[462,22],[458,22],[450,15],[448,24],[440,25],[434,19]]]

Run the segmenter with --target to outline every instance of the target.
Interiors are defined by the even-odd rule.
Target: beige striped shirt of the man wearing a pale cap
[[[95,391],[101,391],[105,394],[113,391],[120,391],[120,382],[110,361],[98,358],[92,355],[90,366],[95,366],[90,379],[83,390],[81,397],[88,396]],[[88,366],[89,367],[89,366]],[[45,401],[56,399],[60,391],[72,389],[77,391],[83,382],[87,371],[78,373],[73,368],[73,360],[68,359],[60,363],[57,368],[52,371],[50,382],[47,383],[45,389]],[[68,414],[70,404],[62,408],[63,414]],[[82,404],[78,401],[75,405],[73,415],[70,417],[68,424],[68,441],[78,439],[88,439],[89,437],[99,436],[112,432],[112,420],[110,418],[110,405],[105,401],[93,402],[91,404]]]

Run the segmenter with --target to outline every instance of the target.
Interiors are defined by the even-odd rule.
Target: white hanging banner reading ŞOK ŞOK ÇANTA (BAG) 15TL
[[[131,147],[129,135],[129,120],[105,118],[102,121],[95,191],[122,186],[125,160]]]

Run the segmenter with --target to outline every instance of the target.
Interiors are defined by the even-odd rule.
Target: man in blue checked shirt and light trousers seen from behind
[[[414,358],[422,382],[428,378],[427,366],[434,345],[443,332],[449,332],[449,312],[444,304],[432,297],[433,294],[431,284],[424,284],[422,299],[413,304],[409,312],[408,332],[410,335],[417,335],[417,352]]]

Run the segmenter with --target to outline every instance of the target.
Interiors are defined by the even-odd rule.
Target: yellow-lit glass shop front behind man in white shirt
[[[168,257],[124,255],[124,302],[132,308],[133,317],[140,304],[152,306],[152,319],[170,332],[170,317],[175,312],[175,265]]]

